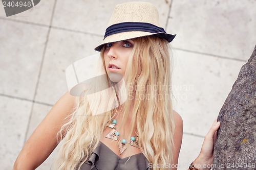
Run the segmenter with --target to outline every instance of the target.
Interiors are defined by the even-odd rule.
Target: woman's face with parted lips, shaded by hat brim
[[[107,43],[103,54],[106,72],[108,74],[120,74],[124,77],[126,65],[132,53],[134,41],[123,40]]]

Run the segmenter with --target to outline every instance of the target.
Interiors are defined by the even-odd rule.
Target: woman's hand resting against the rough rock
[[[200,170],[208,170],[211,168],[211,165],[214,161],[214,145],[219,127],[220,122],[217,122],[216,119],[204,138],[199,156],[195,159],[195,161],[193,161],[193,164],[196,168]]]

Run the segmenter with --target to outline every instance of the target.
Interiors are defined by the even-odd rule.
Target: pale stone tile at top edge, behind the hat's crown
[[[115,5],[131,2],[125,0],[108,1],[57,1],[53,26],[101,35],[103,37]],[[170,0],[146,1],[159,9],[161,24],[165,27]]]

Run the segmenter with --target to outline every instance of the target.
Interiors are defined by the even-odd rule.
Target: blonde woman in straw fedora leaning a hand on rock
[[[168,43],[174,37],[159,26],[152,4],[117,5],[95,48],[106,76],[76,98],[67,92],[59,99],[26,142],[14,169],[35,169],[60,140],[55,169],[177,169],[183,122],[171,100]],[[89,97],[95,86],[114,93]],[[217,121],[212,125],[189,169],[210,169],[219,126]]]

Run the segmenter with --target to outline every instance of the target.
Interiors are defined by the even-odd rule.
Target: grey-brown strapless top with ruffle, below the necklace
[[[81,166],[81,170],[150,170],[149,162],[142,154],[120,158],[104,143],[93,151],[91,157]]]

